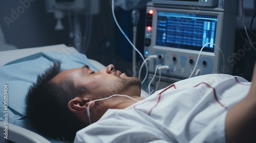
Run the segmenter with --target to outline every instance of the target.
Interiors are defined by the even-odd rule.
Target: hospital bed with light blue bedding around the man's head
[[[62,69],[80,67],[84,64],[93,70],[105,66],[88,59],[74,47],[64,44],[3,51],[0,52],[0,58],[0,142],[7,141],[4,137],[14,142],[67,142],[65,138],[44,136],[33,128],[25,112],[24,99],[28,88],[35,82],[37,75],[44,72],[55,60],[62,61]],[[5,92],[8,93],[7,98],[4,97]],[[8,108],[4,106],[6,102]]]

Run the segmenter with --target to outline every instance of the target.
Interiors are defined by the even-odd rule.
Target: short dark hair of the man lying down
[[[68,102],[85,89],[77,90],[71,78],[53,83],[60,73],[61,62],[51,65],[30,87],[26,96],[26,112],[35,128],[52,138],[74,140],[84,124],[68,109]]]

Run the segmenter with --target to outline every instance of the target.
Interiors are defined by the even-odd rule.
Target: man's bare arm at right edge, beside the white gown
[[[227,112],[225,123],[227,142],[256,141],[256,64],[249,93]]]

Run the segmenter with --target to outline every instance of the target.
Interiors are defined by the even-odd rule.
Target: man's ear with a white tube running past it
[[[92,101],[88,98],[74,98],[68,102],[68,108],[73,113],[84,112],[87,109],[87,106]],[[95,102],[90,104],[90,108],[95,104]]]

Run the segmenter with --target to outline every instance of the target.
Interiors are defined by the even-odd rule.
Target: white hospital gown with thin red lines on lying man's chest
[[[74,142],[226,142],[226,113],[249,88],[245,79],[223,74],[182,80],[125,109],[109,109]]]

